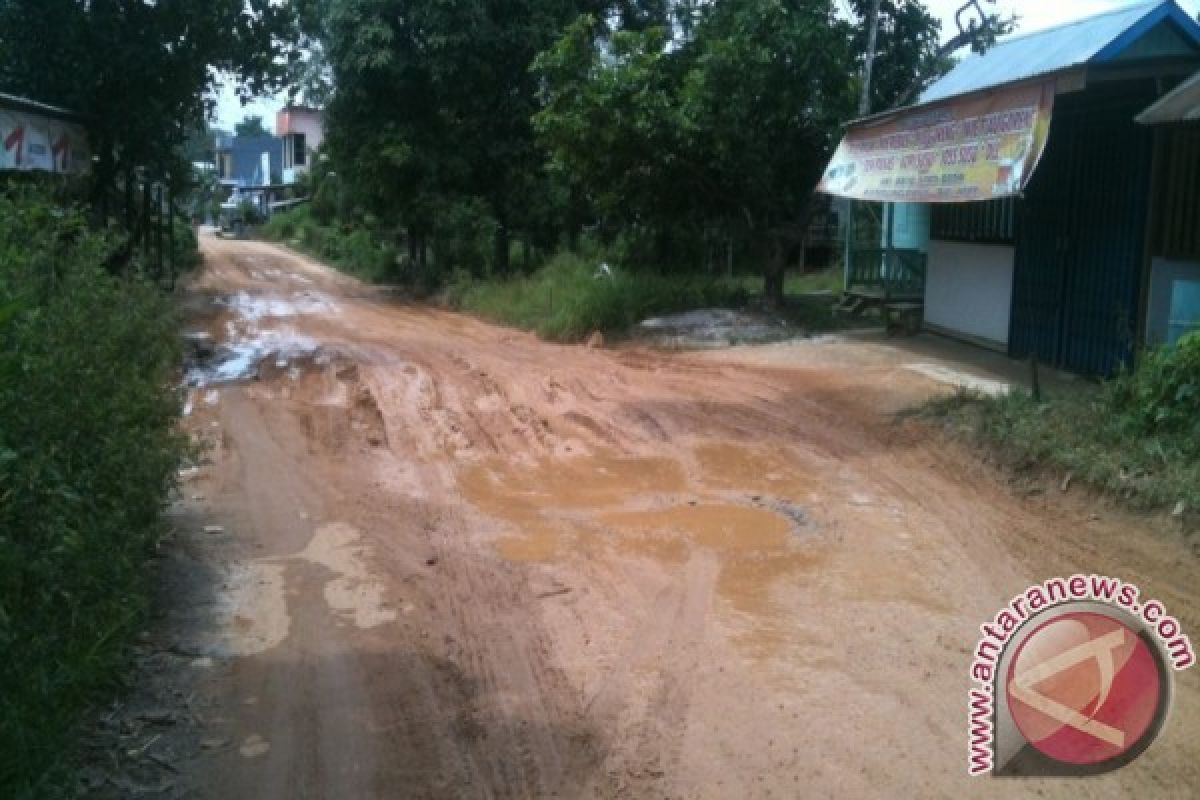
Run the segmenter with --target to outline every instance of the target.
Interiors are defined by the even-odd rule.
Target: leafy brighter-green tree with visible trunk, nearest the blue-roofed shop
[[[649,29],[601,48],[596,26],[576,23],[538,62],[535,125],[556,163],[626,227],[752,243],[780,301],[854,107],[848,23],[821,0],[739,0],[706,6],[685,40]]]

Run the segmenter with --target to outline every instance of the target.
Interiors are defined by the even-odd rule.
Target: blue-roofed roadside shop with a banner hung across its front
[[[1140,2],[1007,38],[852,122],[821,190],[883,203],[884,224],[850,253],[847,296],[1080,373],[1166,341],[1190,301],[1162,287],[1188,294],[1200,263],[1200,150],[1182,121],[1136,118],[1198,67],[1195,19]]]

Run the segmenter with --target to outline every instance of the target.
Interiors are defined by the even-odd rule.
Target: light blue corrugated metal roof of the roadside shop
[[[926,89],[920,103],[931,103],[994,86],[1016,83],[1087,64],[1103,64],[1171,19],[1200,47],[1200,25],[1174,0],[1139,2],[1056,28],[1007,38],[983,55],[964,59]]]

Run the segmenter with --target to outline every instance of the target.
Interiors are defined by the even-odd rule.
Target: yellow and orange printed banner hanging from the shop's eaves
[[[1045,150],[1052,80],[859,124],[817,191],[883,203],[973,203],[1020,193]]]

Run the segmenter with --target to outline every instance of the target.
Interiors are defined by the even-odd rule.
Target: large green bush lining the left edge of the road
[[[82,213],[0,193],[0,795],[42,794],[145,609],[184,443],[166,296]]]

